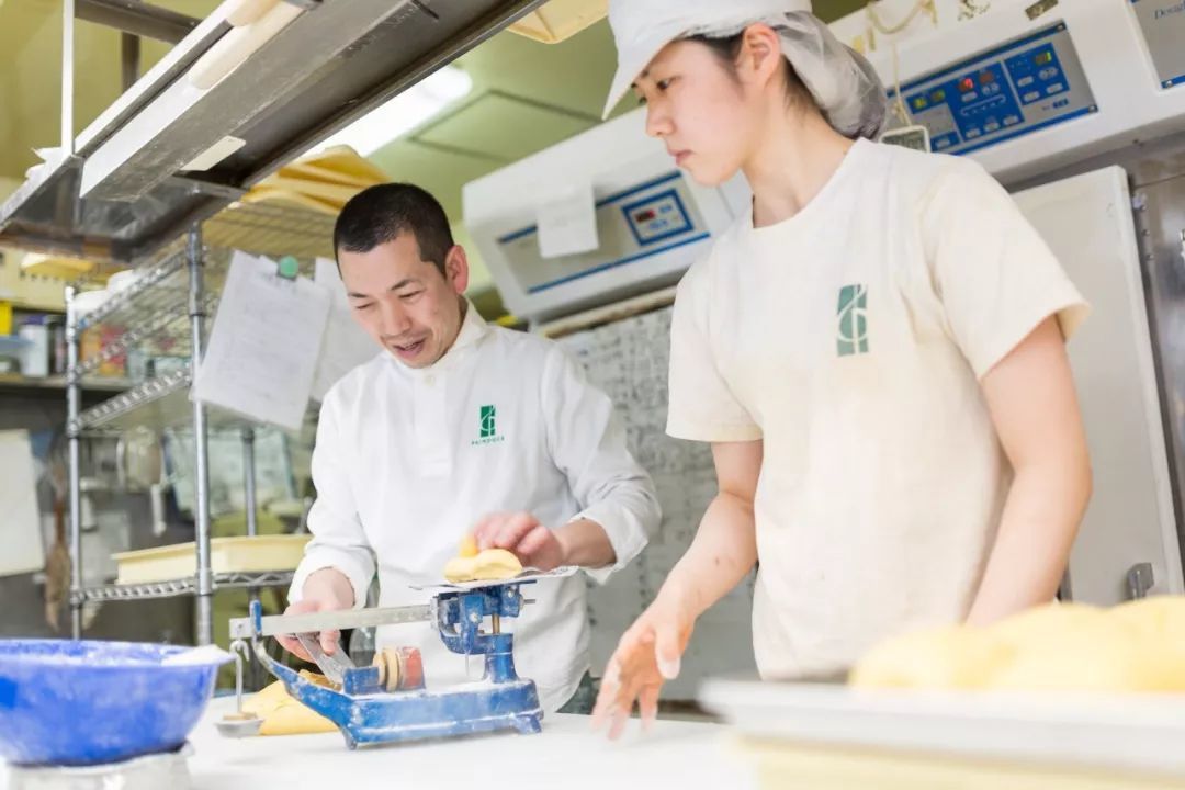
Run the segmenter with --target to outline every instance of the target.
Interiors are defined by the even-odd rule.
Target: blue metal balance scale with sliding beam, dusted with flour
[[[236,650],[249,641],[250,651],[268,672],[292,696],[334,722],[350,749],[506,730],[537,733],[543,711],[534,681],[518,676],[514,636],[502,634],[500,625],[502,618],[519,616],[525,604],[521,589],[538,578],[447,589],[421,606],[264,617],[260,603],[252,602],[249,617],[231,621],[231,636],[237,640]],[[325,655],[313,636],[329,629],[423,621],[435,623],[441,641],[453,653],[485,656],[482,680],[427,688],[417,651],[384,650],[376,666],[356,667],[340,651]],[[268,655],[265,637],[281,634],[297,635],[332,687],[310,682]],[[242,688],[242,663],[237,674]],[[228,736],[258,730],[258,722],[241,720],[237,726],[239,732],[235,732],[235,722],[220,722],[219,728]]]

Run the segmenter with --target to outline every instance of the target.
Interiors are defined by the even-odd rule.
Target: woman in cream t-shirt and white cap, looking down
[[[764,677],[1053,597],[1090,493],[1064,341],[1082,296],[976,163],[872,142],[884,88],[809,0],[611,0],[647,131],[752,211],[684,277],[667,431],[719,493],[597,704],[653,718],[696,618],[754,564]]]

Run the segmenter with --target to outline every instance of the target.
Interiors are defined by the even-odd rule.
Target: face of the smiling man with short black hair
[[[449,250],[441,274],[404,232],[369,252],[339,250],[338,263],[354,320],[397,360],[428,367],[453,347],[469,284],[463,249]]]

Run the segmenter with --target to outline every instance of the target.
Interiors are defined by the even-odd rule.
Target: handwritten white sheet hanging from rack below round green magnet
[[[332,296],[276,263],[235,252],[192,397],[299,430],[313,388]]]

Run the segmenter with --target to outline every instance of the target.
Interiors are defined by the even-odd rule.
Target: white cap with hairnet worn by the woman
[[[754,23],[779,33],[782,53],[837,131],[848,137],[880,134],[888,105],[880,78],[811,13],[811,0],[609,0],[617,73],[604,115],[671,41],[728,38]]]

